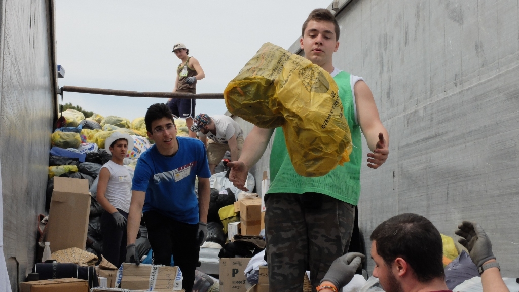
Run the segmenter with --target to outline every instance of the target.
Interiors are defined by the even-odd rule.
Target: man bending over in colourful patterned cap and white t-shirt
[[[207,159],[211,175],[228,150],[230,160],[237,161],[243,148],[243,131],[233,118],[226,115],[198,114],[195,117],[192,132],[198,132],[200,141],[207,145]],[[209,143],[207,143],[209,138]]]

